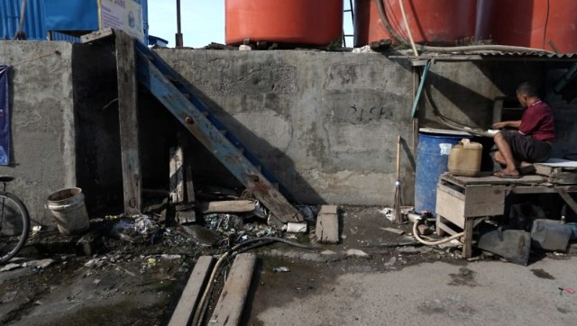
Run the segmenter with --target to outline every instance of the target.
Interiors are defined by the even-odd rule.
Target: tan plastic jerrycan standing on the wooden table
[[[481,171],[483,145],[463,139],[453,146],[447,168],[453,176],[475,177]]]

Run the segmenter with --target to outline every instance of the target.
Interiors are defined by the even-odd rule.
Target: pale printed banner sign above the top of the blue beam
[[[98,24],[100,29],[123,30],[145,42],[142,6],[133,0],[98,0]]]

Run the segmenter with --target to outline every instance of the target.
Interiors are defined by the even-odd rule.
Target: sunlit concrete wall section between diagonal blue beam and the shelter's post
[[[407,61],[313,51],[160,50],[305,203],[391,203],[412,139]],[[411,197],[407,148],[402,176]]]

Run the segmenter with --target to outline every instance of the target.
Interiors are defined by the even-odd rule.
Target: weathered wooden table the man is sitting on
[[[456,177],[445,173],[439,178],[436,191],[436,231],[451,235],[463,231],[463,257],[471,258],[472,230],[489,216],[505,213],[508,194],[559,194],[577,213],[577,203],[570,193],[577,192],[577,183],[552,183],[551,177],[524,176],[518,179],[501,177]],[[460,230],[459,230],[460,229]]]

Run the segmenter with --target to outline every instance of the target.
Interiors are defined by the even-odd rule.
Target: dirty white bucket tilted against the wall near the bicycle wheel
[[[77,234],[90,227],[84,194],[80,188],[67,188],[48,196],[48,209],[62,235]]]

